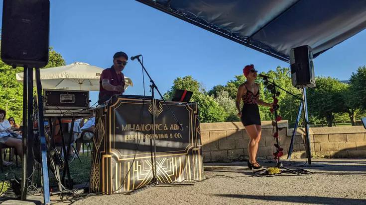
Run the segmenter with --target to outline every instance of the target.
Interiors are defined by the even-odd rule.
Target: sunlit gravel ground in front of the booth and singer
[[[297,165],[302,162],[291,161]],[[284,164],[288,163],[284,161]],[[244,162],[206,163],[208,179],[194,183],[194,186],[159,185],[131,196],[89,197],[74,204],[366,205],[366,159],[313,159],[312,166],[301,168],[312,174],[253,177]],[[56,200],[55,197],[52,199]]]

